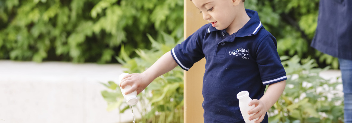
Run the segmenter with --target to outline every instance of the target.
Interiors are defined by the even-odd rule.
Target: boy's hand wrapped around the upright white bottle
[[[265,117],[265,113],[268,109],[266,107],[265,103],[263,101],[253,99],[248,105],[249,106],[252,106],[252,105],[256,106],[256,108],[253,108],[252,110],[248,111],[248,114],[254,114],[253,116],[249,117],[249,120],[256,119],[259,117],[258,120],[255,121],[254,123],[262,122]]]

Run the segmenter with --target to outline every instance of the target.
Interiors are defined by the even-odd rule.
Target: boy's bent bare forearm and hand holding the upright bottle
[[[248,111],[248,114],[254,114],[253,116],[249,117],[249,120],[258,118],[257,121],[254,123],[260,123],[263,121],[265,117],[266,111],[268,111],[272,105],[279,99],[282,92],[284,91],[286,86],[286,81],[281,81],[277,83],[270,84],[268,89],[266,89],[265,94],[259,100],[254,99],[248,105],[252,106],[255,105],[256,108]]]

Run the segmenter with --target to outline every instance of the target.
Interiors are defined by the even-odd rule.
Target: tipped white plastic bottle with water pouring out
[[[124,78],[126,75],[128,75],[128,73],[122,73],[122,74],[120,74],[120,76],[119,76],[119,81],[121,82],[122,78]],[[119,82],[119,83],[120,83],[120,82]],[[122,89],[122,88],[120,87],[121,92],[122,92],[122,95],[124,95],[124,97],[125,97],[125,99],[126,99],[126,103],[127,103],[128,105],[132,106],[132,105],[137,104],[138,98],[137,98],[137,90],[136,90],[136,91],[133,91],[133,92],[130,93],[130,94],[125,95],[125,91],[128,90],[128,89],[130,89],[130,88],[131,88],[130,85],[125,86],[124,89]]]

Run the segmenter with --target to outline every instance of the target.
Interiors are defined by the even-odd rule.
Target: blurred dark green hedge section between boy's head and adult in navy
[[[338,68],[336,58],[310,47],[318,22],[319,0],[248,0],[245,7],[257,11],[264,27],[276,37],[280,56],[312,57],[320,66]]]

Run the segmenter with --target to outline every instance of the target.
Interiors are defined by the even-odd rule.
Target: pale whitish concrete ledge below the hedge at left
[[[100,94],[99,82],[121,73],[120,64],[0,60],[0,123],[131,122],[130,110],[106,111]]]

